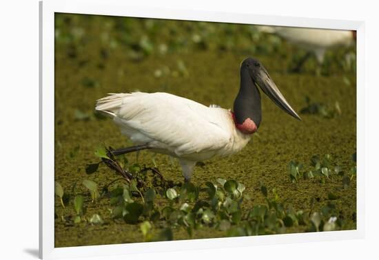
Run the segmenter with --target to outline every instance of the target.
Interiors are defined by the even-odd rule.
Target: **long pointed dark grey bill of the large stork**
[[[265,68],[261,67],[260,73],[254,79],[254,82],[260,87],[260,89],[262,89],[263,92],[265,92],[267,96],[269,96],[269,98],[271,98],[272,101],[274,101],[278,107],[289,113],[289,115],[294,118],[301,120],[300,116],[298,116],[294,109],[289,105],[283,94],[280,93],[278,87],[276,87],[274,81],[269,76]]]

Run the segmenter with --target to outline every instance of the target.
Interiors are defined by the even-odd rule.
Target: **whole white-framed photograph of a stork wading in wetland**
[[[363,237],[364,24],[40,2],[40,257]]]

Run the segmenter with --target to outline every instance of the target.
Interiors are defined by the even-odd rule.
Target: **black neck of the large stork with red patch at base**
[[[260,92],[247,69],[240,69],[240,90],[234,100],[234,122],[243,133],[254,133],[262,119]]]

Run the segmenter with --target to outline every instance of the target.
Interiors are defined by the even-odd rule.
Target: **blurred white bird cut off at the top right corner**
[[[256,25],[260,32],[278,34],[287,41],[298,45],[308,52],[298,69],[309,57],[309,53],[315,54],[318,63],[324,61],[325,52],[333,47],[349,47],[356,41],[356,31],[349,30],[327,30],[316,28],[296,28],[285,26]],[[296,69],[295,69],[296,70]]]

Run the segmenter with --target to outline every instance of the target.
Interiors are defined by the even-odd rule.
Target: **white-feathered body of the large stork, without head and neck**
[[[198,161],[237,153],[250,136],[235,127],[232,113],[167,93],[110,94],[96,104],[134,144],[178,158],[189,180]]]

